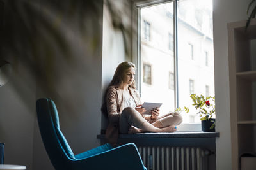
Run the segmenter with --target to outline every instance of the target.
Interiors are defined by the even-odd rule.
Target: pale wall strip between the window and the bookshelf
[[[214,67],[216,95],[216,164],[232,170],[227,23],[246,20],[250,0],[213,0]]]

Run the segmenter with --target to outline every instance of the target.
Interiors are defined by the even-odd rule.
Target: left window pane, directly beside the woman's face
[[[142,8],[141,98],[163,103],[161,113],[175,109],[173,73],[173,3]]]

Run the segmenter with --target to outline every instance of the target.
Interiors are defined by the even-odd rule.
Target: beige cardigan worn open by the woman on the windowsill
[[[138,91],[132,87],[128,87],[128,89],[136,103],[136,106],[142,104]],[[106,105],[109,120],[109,124],[106,130],[106,139],[109,143],[115,145],[119,133],[119,118],[122,110],[124,109],[124,96],[122,89],[119,89],[115,86],[110,86],[107,89]]]

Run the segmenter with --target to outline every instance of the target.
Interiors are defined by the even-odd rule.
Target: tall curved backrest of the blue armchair
[[[58,111],[49,98],[36,101],[38,125],[45,150],[55,169],[61,169],[65,162],[75,159],[67,140],[60,131]],[[67,167],[65,167],[67,168]]]

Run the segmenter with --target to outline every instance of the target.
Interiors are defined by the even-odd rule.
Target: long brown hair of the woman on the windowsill
[[[117,67],[116,67],[116,71],[115,71],[115,74],[109,84],[109,87],[110,86],[115,86],[115,87],[122,87],[123,86],[123,76],[124,76],[124,73],[125,71],[127,71],[127,69],[133,67],[135,69],[135,64],[133,64],[132,62],[129,62],[129,61],[125,61],[125,62],[122,62],[120,63]],[[133,80],[132,81],[132,84],[129,85],[129,87],[132,87],[134,89],[136,89],[136,86],[135,86],[135,81]]]

